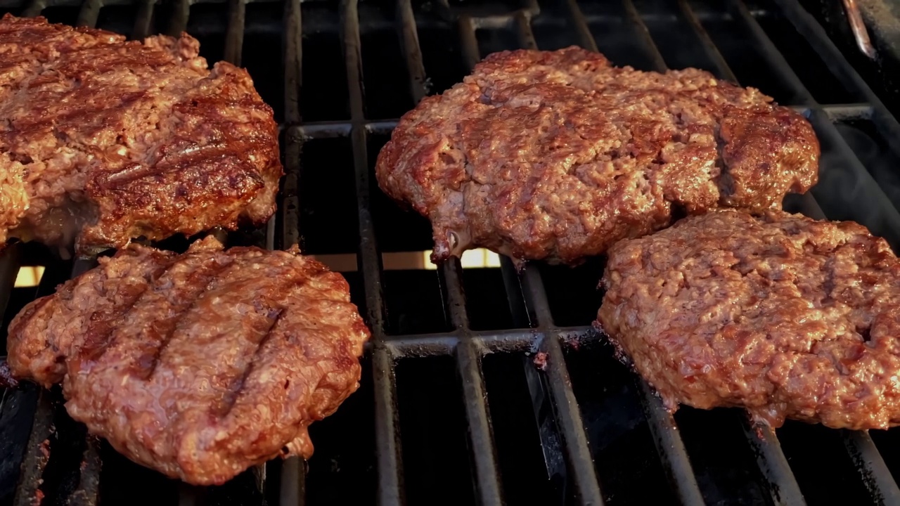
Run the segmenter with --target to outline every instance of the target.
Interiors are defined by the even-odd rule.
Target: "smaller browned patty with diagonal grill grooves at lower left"
[[[142,465],[223,483],[309,457],[307,427],[356,391],[369,330],[347,282],[296,251],[132,246],[23,309],[13,375]]]

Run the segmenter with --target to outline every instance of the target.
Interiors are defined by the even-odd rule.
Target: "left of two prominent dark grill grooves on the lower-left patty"
[[[202,256],[199,257],[202,258]],[[187,259],[188,258],[183,258],[182,263],[187,263]],[[220,260],[225,260],[225,262],[220,263]],[[215,262],[215,266],[211,269],[200,267],[191,273],[192,276],[188,276],[189,281],[180,286],[184,288],[184,292],[176,293],[175,295],[176,303],[170,303],[170,299],[167,298],[166,303],[169,303],[169,305],[175,309],[175,314],[165,320],[165,323],[162,325],[162,332],[154,332],[156,335],[161,333],[162,338],[158,339],[156,342],[148,343],[149,353],[141,355],[136,360],[138,377],[141,380],[149,381],[150,377],[157,370],[159,357],[162,355],[163,349],[165,349],[166,346],[168,346],[169,341],[172,340],[172,336],[175,334],[178,323],[184,318],[184,314],[191,311],[197,301],[201,299],[202,295],[205,294],[210,289],[211,285],[219,278],[221,273],[233,265],[234,258],[214,258],[213,261]],[[181,300],[178,300],[178,298]],[[154,330],[159,329],[155,328]]]

